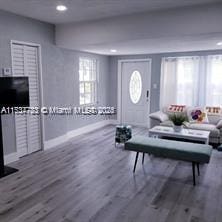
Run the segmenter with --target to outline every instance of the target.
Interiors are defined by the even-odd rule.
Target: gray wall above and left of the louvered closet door
[[[4,11],[0,11],[0,30],[0,76],[3,67],[11,67],[11,40],[40,43],[43,49],[54,43],[54,26]],[[16,151],[13,116],[3,116],[2,125],[4,153],[13,153]]]

